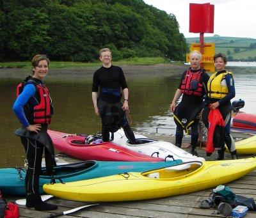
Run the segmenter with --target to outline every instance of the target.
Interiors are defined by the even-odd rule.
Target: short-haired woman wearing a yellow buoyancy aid
[[[225,54],[218,53],[214,56],[214,65],[217,70],[211,75],[207,83],[207,101],[211,109],[218,108],[225,121],[224,141],[232,155],[232,159],[237,159],[236,146],[230,135],[230,122],[232,105],[230,100],[236,96],[234,77],[231,72],[225,70],[227,57]],[[215,132],[214,132],[215,134]],[[224,158],[224,143],[218,148],[218,160]]]

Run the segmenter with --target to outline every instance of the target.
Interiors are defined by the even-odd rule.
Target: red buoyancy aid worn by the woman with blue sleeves
[[[32,113],[26,113],[26,117],[28,118],[28,116],[33,116],[33,118],[31,118],[31,120],[33,120],[34,123],[51,123],[51,116],[52,116],[52,100],[51,97],[49,95],[49,91],[48,89],[42,85],[42,84],[38,84],[35,81],[33,81],[33,79],[29,79],[29,81],[24,82],[24,83],[20,83],[17,86],[17,91],[16,91],[16,95],[17,97],[20,95],[20,93],[22,92],[24,85],[25,84],[34,84],[36,87],[36,91],[38,92],[38,104],[35,105],[32,109]],[[31,111],[31,109],[29,109]]]

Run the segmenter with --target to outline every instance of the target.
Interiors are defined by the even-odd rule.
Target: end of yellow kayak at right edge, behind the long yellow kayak
[[[256,136],[248,137],[236,142],[237,153],[250,155],[256,153]]]

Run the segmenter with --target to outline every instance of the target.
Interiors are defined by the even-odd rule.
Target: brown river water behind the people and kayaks
[[[24,149],[19,137],[13,130],[19,127],[19,121],[13,114],[17,84],[27,73],[15,69],[17,76],[0,77],[0,167],[22,166]],[[255,81],[256,67],[228,66],[234,72],[236,97],[245,101],[242,111],[256,114]],[[93,71],[93,70],[92,70]],[[0,69],[0,74],[3,69]],[[51,74],[51,72],[50,72]],[[175,133],[175,124],[170,116],[169,105],[179,84],[180,73],[135,76],[125,70],[129,86],[129,105],[131,109],[131,127],[140,132],[156,132],[157,127],[172,128],[169,134]],[[63,75],[54,78],[47,76],[45,83],[54,102],[54,117],[50,128],[67,133],[93,134],[100,130],[100,118],[95,116],[92,104],[92,75],[70,77]],[[163,130],[163,129],[162,129]]]

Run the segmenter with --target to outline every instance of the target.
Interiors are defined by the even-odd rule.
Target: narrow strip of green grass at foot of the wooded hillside
[[[147,58],[129,58],[119,61],[112,61],[113,65],[157,65],[161,63],[171,63],[170,59],[162,57],[147,57]],[[182,65],[183,63],[177,63]],[[50,67],[54,68],[91,68],[101,66],[100,61],[90,63],[83,62],[68,62],[68,61],[51,61]],[[31,68],[30,61],[17,62],[1,62],[0,68]]]

